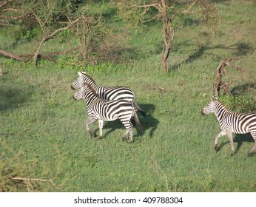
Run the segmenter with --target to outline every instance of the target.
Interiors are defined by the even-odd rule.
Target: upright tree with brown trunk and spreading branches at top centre
[[[148,2],[148,4],[146,4]],[[130,7],[131,9],[137,10],[140,13],[141,19],[149,11],[150,8],[155,8],[158,13],[146,20],[141,20],[141,22],[151,21],[153,19],[161,19],[163,22],[162,34],[164,37],[163,50],[161,55],[161,64],[164,72],[169,72],[169,52],[172,48],[172,42],[175,35],[175,30],[172,27],[172,21],[178,14],[181,13],[192,13],[192,8],[196,4],[201,8],[201,13],[203,13],[203,20],[209,21],[210,18],[217,19],[217,10],[213,4],[210,4],[208,0],[194,0],[186,1],[186,4],[182,8],[177,6],[177,1],[167,1],[167,0],[152,0],[143,1],[143,4],[129,4],[123,2],[121,4],[123,7]],[[120,4],[120,3],[119,3]]]

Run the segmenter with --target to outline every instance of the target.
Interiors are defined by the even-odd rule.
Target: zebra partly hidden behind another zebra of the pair
[[[106,99],[106,100],[127,100],[134,104],[135,109],[138,112],[141,112],[142,115],[145,115],[145,112],[141,109],[140,106],[135,101],[135,93],[132,89],[129,89],[124,86],[115,86],[115,87],[104,87],[100,85],[96,85],[95,81],[86,74],[86,72],[78,72],[78,78],[75,79],[73,84],[71,85],[71,89],[80,89],[84,86],[84,82],[87,82],[92,86],[92,89],[98,94],[99,98]]]

